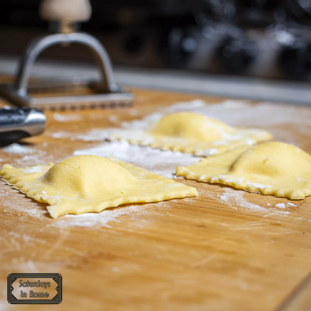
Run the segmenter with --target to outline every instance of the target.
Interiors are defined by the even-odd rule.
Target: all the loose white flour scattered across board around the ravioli
[[[305,128],[305,125],[311,125],[311,112],[309,108],[294,107],[285,105],[280,109],[279,105],[271,103],[250,104],[247,101],[242,100],[226,100],[218,104],[207,104],[203,100],[193,100],[189,102],[180,102],[173,104],[169,107],[160,108],[158,112],[154,112],[141,120],[133,120],[131,122],[123,122],[122,128],[131,129],[146,129],[151,123],[156,122],[159,118],[168,113],[174,113],[177,111],[193,111],[196,113],[208,115],[211,118],[216,118],[222,122],[225,122],[231,126],[249,126],[249,127],[274,127],[277,124],[297,123],[301,125],[301,129]],[[137,111],[132,109],[130,115],[137,115]],[[80,120],[80,115],[62,115],[53,114],[53,118],[59,122],[67,122],[73,120]],[[94,115],[94,118],[96,116]],[[111,122],[116,122],[117,119],[110,116]],[[71,140],[83,140],[83,141],[102,141],[105,140],[110,133],[115,131],[116,128],[97,128],[89,132],[54,132],[48,133],[48,135],[54,138],[70,138]],[[282,133],[278,133],[278,138],[284,138],[288,136],[288,140],[291,137],[286,130],[282,129]],[[37,152],[31,148],[21,146],[19,144],[12,144],[3,148],[3,151],[7,153],[26,154],[21,159],[17,159],[18,164],[32,165],[38,163],[38,159],[42,159],[42,152]],[[31,155],[29,155],[31,153]],[[194,157],[190,154],[183,154],[180,152],[172,151],[160,151],[158,149],[152,149],[150,147],[141,147],[137,145],[129,145],[127,142],[111,142],[100,143],[93,148],[76,150],[73,155],[93,154],[98,156],[113,156],[119,160],[133,163],[151,172],[163,175],[165,177],[172,178],[175,173],[176,166],[190,165],[199,161],[198,157]],[[47,163],[47,157],[44,157],[44,161]],[[53,161],[53,159],[51,159]],[[4,204],[4,207],[13,207],[18,212],[25,212],[31,216],[38,217],[41,220],[47,215],[44,204],[37,204],[33,208],[21,207],[18,200],[12,200],[12,192],[16,195],[16,190],[6,191],[8,194],[8,202]],[[220,191],[204,191],[207,197],[213,198],[220,203],[226,204],[231,208],[248,209],[253,211],[260,211],[264,213],[264,217],[271,214],[284,214],[288,215],[290,211],[281,211],[278,208],[284,209],[285,204],[276,204],[275,208],[270,203],[267,203],[265,207],[261,207],[258,204],[248,202],[244,198],[245,192],[242,190],[236,190],[230,187],[224,187]],[[0,189],[0,195],[3,194]],[[18,194],[17,195],[23,195]],[[24,195],[23,195],[24,196]],[[160,210],[169,208],[169,204],[164,202],[152,203],[154,206],[160,206]],[[153,213],[150,211],[150,204],[137,204],[120,206],[113,209],[107,209],[100,213],[86,213],[82,215],[66,215],[53,220],[53,226],[108,226],[112,221],[119,221],[118,217],[130,214],[131,217],[137,215],[145,215],[146,213]],[[293,203],[287,203],[286,206],[296,206]],[[158,210],[155,208],[155,210]],[[159,211],[157,211],[159,212]],[[309,220],[311,222],[311,220]],[[49,223],[51,223],[49,221]]]

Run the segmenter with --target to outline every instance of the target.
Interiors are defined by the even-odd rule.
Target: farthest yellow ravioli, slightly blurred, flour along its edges
[[[125,139],[129,143],[197,156],[210,156],[271,138],[271,134],[263,130],[233,128],[193,112],[168,114],[146,130],[120,129],[110,135],[112,140]]]

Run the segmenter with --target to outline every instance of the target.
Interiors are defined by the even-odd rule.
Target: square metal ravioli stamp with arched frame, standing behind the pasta
[[[51,1],[43,1],[40,12],[41,16],[43,15],[45,19],[49,19],[47,14],[45,16],[42,14],[42,10],[44,11],[44,2],[50,4]],[[60,14],[58,10],[60,4],[58,2],[57,0],[54,1],[54,9],[57,14]],[[53,7],[48,7],[48,9],[49,14],[51,14],[51,10],[53,13]],[[70,7],[67,9],[70,10]],[[12,104],[39,109],[53,110],[131,106],[134,96],[132,93],[118,88],[114,79],[109,55],[100,41],[87,33],[71,32],[73,28],[69,26],[74,24],[72,21],[68,22],[67,17],[64,17],[65,13],[66,10],[63,9],[61,12],[62,16],[58,16],[61,33],[39,37],[30,42],[21,60],[15,82],[12,84],[1,84],[0,95]],[[71,12],[68,11],[67,16],[70,14]],[[52,14],[52,16],[55,19],[55,14]],[[87,17],[89,18],[90,14]],[[85,21],[85,16],[76,16],[74,22],[81,20]],[[100,69],[101,81],[76,84],[66,82],[60,84],[59,82],[42,83],[41,80],[40,83],[32,83],[30,85],[30,72],[39,54],[52,45],[68,45],[70,43],[83,44],[91,50]]]

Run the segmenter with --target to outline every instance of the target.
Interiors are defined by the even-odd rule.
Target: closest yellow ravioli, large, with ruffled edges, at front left
[[[132,164],[100,156],[74,156],[57,164],[16,168],[5,164],[2,179],[39,202],[49,214],[100,212],[125,203],[195,197],[197,190]]]

